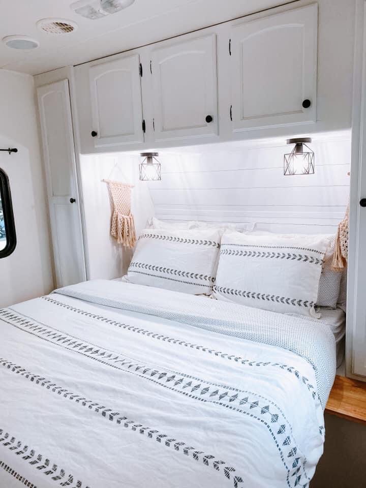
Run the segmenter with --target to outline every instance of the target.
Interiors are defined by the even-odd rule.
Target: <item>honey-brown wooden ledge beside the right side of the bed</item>
[[[366,383],[336,376],[325,412],[366,424]]]

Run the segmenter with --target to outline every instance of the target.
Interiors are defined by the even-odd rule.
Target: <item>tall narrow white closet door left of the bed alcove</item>
[[[37,89],[57,287],[85,281],[68,80]]]

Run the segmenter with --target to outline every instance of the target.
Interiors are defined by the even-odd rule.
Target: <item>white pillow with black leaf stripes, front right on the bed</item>
[[[323,236],[224,234],[214,296],[273,312],[312,315],[327,245]]]

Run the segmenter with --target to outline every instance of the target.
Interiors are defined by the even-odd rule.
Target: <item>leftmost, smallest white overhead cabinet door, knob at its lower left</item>
[[[143,142],[138,54],[91,67],[89,79],[95,147]]]

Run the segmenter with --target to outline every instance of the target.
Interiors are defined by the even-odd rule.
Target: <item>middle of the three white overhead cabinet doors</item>
[[[156,141],[218,134],[215,34],[158,47],[151,73]]]

